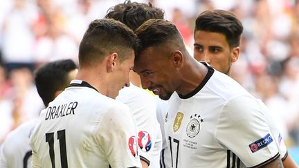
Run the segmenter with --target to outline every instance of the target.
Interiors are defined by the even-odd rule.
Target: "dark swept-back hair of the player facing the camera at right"
[[[230,48],[233,48],[239,46],[243,26],[233,12],[226,10],[206,10],[201,12],[195,21],[194,32],[197,30],[219,32],[225,35]]]

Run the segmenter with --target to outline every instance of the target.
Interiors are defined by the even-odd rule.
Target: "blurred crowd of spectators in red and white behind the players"
[[[176,24],[190,53],[200,12],[234,12],[244,33],[232,77],[269,106],[287,146],[299,147],[298,0],[149,1]],[[122,2],[0,0],[0,144],[15,127],[44,109],[33,82],[35,69],[57,59],[78,62],[78,46],[89,23]]]

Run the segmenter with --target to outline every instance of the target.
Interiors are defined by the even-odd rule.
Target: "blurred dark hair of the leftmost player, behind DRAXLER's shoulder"
[[[69,73],[77,68],[71,59],[48,62],[35,71],[35,85],[37,93],[48,106],[54,100],[56,91],[63,91],[69,86]]]

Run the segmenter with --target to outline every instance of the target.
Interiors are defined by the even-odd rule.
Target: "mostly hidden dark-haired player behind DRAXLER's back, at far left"
[[[49,62],[37,69],[35,84],[44,105],[54,100],[75,79],[78,68],[71,59]],[[31,167],[30,135],[37,120],[21,124],[8,134],[0,149],[0,167]]]

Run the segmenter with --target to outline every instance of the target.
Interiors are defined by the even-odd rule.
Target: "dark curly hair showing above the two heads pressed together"
[[[125,1],[109,8],[105,18],[116,19],[136,30],[143,22],[149,19],[164,19],[161,8],[152,6],[152,3],[138,3]]]

